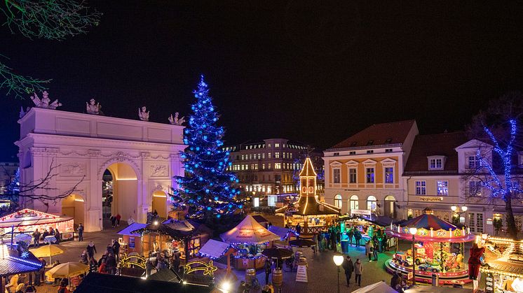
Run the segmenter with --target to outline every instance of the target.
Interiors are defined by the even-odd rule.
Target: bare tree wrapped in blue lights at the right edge
[[[468,127],[470,138],[485,143],[476,153],[479,164],[466,178],[475,180],[479,183],[477,187],[487,190],[489,199],[505,202],[507,232],[513,239],[517,239],[518,229],[512,200],[523,195],[523,178],[517,158],[518,151],[523,147],[522,132],[518,129],[522,118],[522,94],[510,92],[492,101],[488,110],[475,115]]]

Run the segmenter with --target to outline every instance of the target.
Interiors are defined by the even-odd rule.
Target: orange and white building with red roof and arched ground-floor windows
[[[325,201],[341,213],[404,217],[402,173],[417,134],[415,120],[374,124],[325,150]]]

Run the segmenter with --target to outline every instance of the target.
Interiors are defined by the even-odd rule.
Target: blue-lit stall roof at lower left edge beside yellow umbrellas
[[[18,251],[8,248],[8,245],[1,245],[2,254],[5,256],[0,259],[0,277],[11,276],[17,273],[29,273],[39,271],[41,264],[31,252],[27,257],[18,257]]]

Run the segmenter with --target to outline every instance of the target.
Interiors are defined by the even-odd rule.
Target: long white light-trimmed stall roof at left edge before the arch
[[[22,210],[16,211],[15,213],[0,217],[0,228],[11,228],[12,226],[25,227],[36,224],[54,224],[69,220],[73,220],[73,218],[60,217],[59,215],[52,215],[49,213],[43,213],[39,210],[24,208]]]

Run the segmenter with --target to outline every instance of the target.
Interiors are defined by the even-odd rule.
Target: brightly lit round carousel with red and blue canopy
[[[411,249],[397,251],[393,259],[386,261],[389,273],[411,274],[415,267],[416,282],[432,283],[433,274],[440,285],[472,282],[468,278],[467,264],[463,262],[464,243],[475,240],[470,230],[441,220],[427,208],[419,217],[398,226],[391,224],[386,234],[412,241]]]

